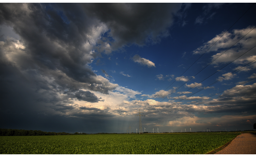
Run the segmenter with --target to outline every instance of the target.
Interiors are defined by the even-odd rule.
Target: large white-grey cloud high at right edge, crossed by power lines
[[[217,60],[215,60],[213,64],[218,65],[219,63],[231,62],[255,46],[256,29],[253,28],[254,27],[252,26],[248,26],[244,29],[234,29],[230,32],[226,32],[225,34],[224,32],[222,32],[221,34],[216,35],[216,37],[214,37],[212,40],[205,42],[203,46],[194,50],[193,54],[205,53],[210,48],[207,51],[208,53],[217,52],[215,55],[212,55],[212,61],[217,58]],[[237,44],[235,44],[238,40],[240,41]],[[230,49],[226,51],[228,48]],[[247,53],[245,53],[243,56],[235,60],[233,63],[249,63],[255,59],[255,48],[253,48]]]

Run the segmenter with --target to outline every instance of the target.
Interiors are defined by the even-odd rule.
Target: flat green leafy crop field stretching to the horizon
[[[238,134],[0,136],[0,154],[206,154]]]

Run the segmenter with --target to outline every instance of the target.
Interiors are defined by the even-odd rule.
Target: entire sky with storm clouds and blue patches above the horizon
[[[0,128],[252,130],[253,3],[1,3]],[[129,130],[128,130],[129,132]]]

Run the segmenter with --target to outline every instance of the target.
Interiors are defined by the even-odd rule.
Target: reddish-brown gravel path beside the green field
[[[242,133],[231,141],[227,147],[215,154],[256,154],[256,135]]]

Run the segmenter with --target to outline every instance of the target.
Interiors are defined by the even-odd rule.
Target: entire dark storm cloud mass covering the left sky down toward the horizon
[[[180,8],[176,3],[1,3],[0,25],[12,27],[20,39],[0,41],[0,116],[6,120],[1,127],[63,120],[56,115],[85,118],[82,112],[90,110],[111,117],[109,107],[75,106],[77,100],[104,101],[93,92],[109,94],[118,87],[90,64],[102,52],[159,42],[170,35],[167,28]]]

